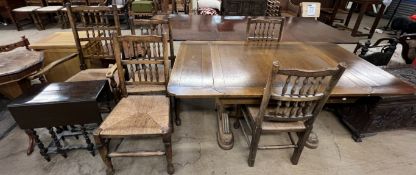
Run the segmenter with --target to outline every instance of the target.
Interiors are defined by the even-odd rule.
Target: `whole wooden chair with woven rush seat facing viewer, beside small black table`
[[[94,132],[95,142],[101,145],[101,158],[108,170],[113,172],[111,159],[114,157],[166,156],[167,172],[173,174],[171,108],[167,94],[141,95],[127,88],[129,85],[162,85],[166,90],[170,73],[167,35],[114,36],[113,43],[123,98]],[[139,48],[144,52],[139,52]],[[125,77],[124,71],[129,77]],[[113,152],[109,149],[111,139],[146,137],[162,137],[165,150]]]

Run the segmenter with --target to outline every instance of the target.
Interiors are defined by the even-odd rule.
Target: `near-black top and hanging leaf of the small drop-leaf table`
[[[98,103],[110,94],[106,80],[51,83],[32,88],[8,109],[22,129],[101,123]]]

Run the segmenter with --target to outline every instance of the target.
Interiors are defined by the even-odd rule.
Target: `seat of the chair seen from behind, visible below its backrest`
[[[257,120],[259,117],[257,114],[259,113],[260,107],[259,106],[247,106],[247,111],[249,112],[250,117],[253,121]],[[270,109],[266,109],[270,110]],[[286,132],[286,131],[302,131],[305,130],[306,127],[303,121],[296,121],[296,122],[271,122],[271,121],[263,121],[262,130],[265,132],[272,132],[272,131],[279,131],[279,132]]]

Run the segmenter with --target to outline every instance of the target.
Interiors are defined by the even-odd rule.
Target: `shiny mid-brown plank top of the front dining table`
[[[182,42],[168,92],[183,98],[261,97],[273,61],[293,69],[348,66],[331,97],[415,94],[413,86],[333,43],[281,42],[258,46],[242,41]]]

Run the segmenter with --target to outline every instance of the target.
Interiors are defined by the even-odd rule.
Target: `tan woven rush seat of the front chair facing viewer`
[[[134,136],[169,132],[169,98],[135,96],[122,98],[100,125],[101,136]]]

